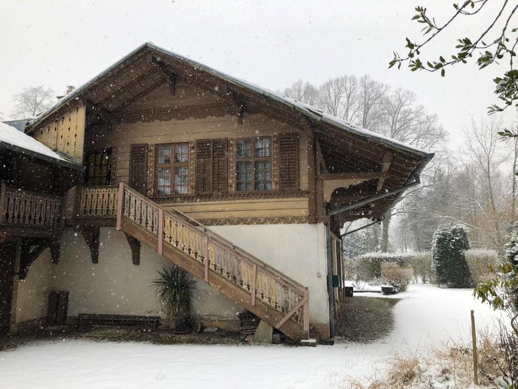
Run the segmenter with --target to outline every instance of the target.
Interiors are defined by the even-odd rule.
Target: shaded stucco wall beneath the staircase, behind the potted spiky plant
[[[166,317],[150,281],[158,275],[157,270],[171,265],[146,245],[140,249],[140,265],[133,265],[124,233],[113,228],[100,229],[99,263],[92,263],[81,234],[66,229],[53,287],[70,292],[69,316],[106,313]],[[202,281],[196,282],[192,308],[193,313],[211,319],[235,319],[242,311]]]

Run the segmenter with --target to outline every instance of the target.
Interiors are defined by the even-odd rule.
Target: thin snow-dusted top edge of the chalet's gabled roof
[[[168,56],[170,56],[170,57],[172,57],[174,59],[190,63],[191,65],[193,65],[193,66],[195,66],[197,68],[203,69],[206,72],[208,72],[208,73],[210,73],[210,74],[212,74],[214,76],[217,76],[217,77],[225,80],[226,82],[238,85],[238,86],[240,86],[242,88],[246,88],[246,89],[248,89],[250,91],[253,91],[253,92],[261,94],[261,95],[264,95],[267,98],[270,98],[272,100],[280,102],[280,103],[282,103],[282,104],[284,104],[286,106],[289,106],[289,107],[295,109],[297,112],[299,112],[299,113],[309,117],[310,119],[312,119],[312,120],[314,120],[316,122],[323,122],[323,123],[329,124],[330,126],[337,127],[337,128],[339,128],[341,130],[344,130],[344,131],[347,131],[347,132],[350,132],[350,133],[353,133],[353,134],[356,134],[356,135],[360,135],[360,136],[363,136],[363,137],[370,138],[373,141],[379,142],[381,144],[385,144],[387,146],[399,149],[401,151],[411,152],[412,154],[418,154],[419,156],[426,157],[427,159],[429,159],[429,158],[431,158],[433,156],[433,153],[430,153],[428,151],[425,151],[425,150],[413,147],[411,145],[407,145],[405,143],[396,141],[396,140],[394,140],[392,138],[385,137],[385,136],[383,136],[381,134],[378,134],[376,132],[365,130],[365,129],[359,127],[359,126],[356,126],[355,124],[352,124],[352,123],[350,123],[348,121],[342,120],[342,119],[340,119],[340,118],[338,118],[336,116],[326,114],[322,110],[320,110],[319,108],[313,107],[313,106],[311,106],[309,104],[306,104],[306,103],[303,103],[303,102],[300,102],[300,101],[297,101],[297,100],[293,100],[293,99],[287,98],[286,96],[283,96],[279,92],[275,92],[275,91],[272,91],[272,90],[269,90],[269,89],[266,89],[266,88],[262,88],[260,86],[257,86],[255,84],[253,84],[252,82],[248,82],[246,80],[243,80],[243,79],[240,79],[240,78],[236,78],[236,77],[230,76],[230,75],[228,75],[226,73],[217,71],[217,70],[215,70],[215,69],[213,69],[213,68],[211,68],[209,66],[206,66],[206,65],[204,65],[202,63],[199,63],[197,61],[193,61],[190,58],[183,57],[180,54],[177,54],[175,52],[166,50],[166,49],[164,49],[162,47],[156,46],[155,44],[153,44],[151,42],[147,42],[147,43],[139,46],[138,48],[136,48],[132,52],[128,53],[124,58],[120,59],[119,61],[117,61],[116,63],[114,63],[110,67],[108,67],[106,70],[104,70],[103,72],[99,73],[97,76],[92,78],[90,81],[86,82],[85,84],[81,85],[79,88],[77,88],[74,91],[70,92],[64,98],[58,100],[55,104],[53,104],[52,106],[47,108],[44,112],[39,114],[36,118],[31,120],[28,123],[28,127],[32,127],[32,126],[34,126],[35,123],[37,123],[37,122],[47,118],[52,113],[54,113],[57,109],[59,109],[61,106],[65,105],[65,104],[68,104],[71,101],[79,99],[81,93],[84,92],[95,81],[97,81],[98,79],[102,78],[104,75],[106,75],[106,73],[110,72],[113,68],[117,67],[122,62],[124,62],[126,59],[130,58],[132,55],[134,55],[135,53],[137,53],[138,51],[140,51],[140,50],[142,50],[142,49],[144,49],[146,47],[148,47],[150,49],[153,49],[153,50],[156,50],[158,52],[161,52],[164,55],[168,55]]]

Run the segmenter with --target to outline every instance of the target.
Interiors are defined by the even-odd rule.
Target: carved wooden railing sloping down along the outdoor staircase
[[[159,254],[164,244],[177,248],[204,266],[206,282],[209,273],[218,274],[250,293],[252,305],[261,301],[280,312],[283,318],[277,328],[292,320],[309,333],[307,288],[185,214],[165,211],[124,183],[118,191],[117,229],[121,229],[123,217],[132,221],[157,237]]]

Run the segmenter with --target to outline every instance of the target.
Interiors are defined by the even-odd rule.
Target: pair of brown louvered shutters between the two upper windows
[[[228,140],[226,138],[196,141],[195,172],[196,193],[227,193]]]

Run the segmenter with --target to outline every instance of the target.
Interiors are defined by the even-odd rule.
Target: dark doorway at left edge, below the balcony
[[[0,243],[0,333],[11,326],[12,283],[15,276],[16,241]]]

